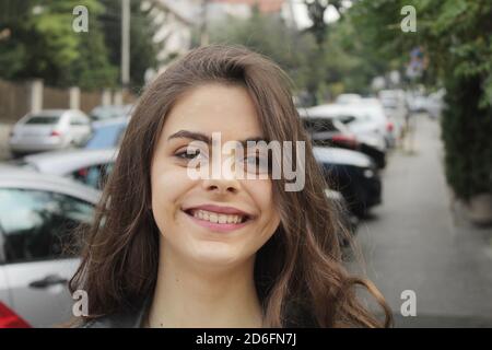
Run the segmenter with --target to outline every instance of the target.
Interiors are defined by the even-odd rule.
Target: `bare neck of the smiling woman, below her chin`
[[[187,264],[161,242],[157,282],[148,326],[176,328],[261,327],[254,280],[255,258],[227,268]]]

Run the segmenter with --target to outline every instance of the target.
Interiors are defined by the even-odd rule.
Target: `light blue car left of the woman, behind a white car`
[[[93,133],[82,144],[83,149],[109,149],[118,147],[128,127],[129,117],[119,117],[92,124]]]

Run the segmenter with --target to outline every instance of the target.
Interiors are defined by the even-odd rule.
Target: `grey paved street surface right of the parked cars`
[[[367,277],[391,306],[397,327],[490,327],[492,230],[472,226],[450,203],[438,121],[426,115],[413,121],[414,152],[390,155],[383,205],[359,228]],[[415,293],[417,317],[400,314],[405,290]]]

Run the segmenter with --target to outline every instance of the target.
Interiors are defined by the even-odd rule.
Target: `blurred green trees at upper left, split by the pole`
[[[145,70],[156,66],[155,28],[140,11],[140,2],[132,0],[131,27],[131,80],[139,86]],[[87,9],[89,33],[73,31],[78,5]],[[0,77],[42,78],[51,86],[84,90],[118,85],[118,7],[115,0],[0,1],[0,32],[8,28],[11,33],[0,39]]]

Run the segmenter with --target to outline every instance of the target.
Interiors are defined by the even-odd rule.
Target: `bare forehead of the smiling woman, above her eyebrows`
[[[246,88],[216,83],[195,88],[176,101],[166,117],[163,137],[179,130],[221,132],[223,139],[232,140],[261,136]]]

